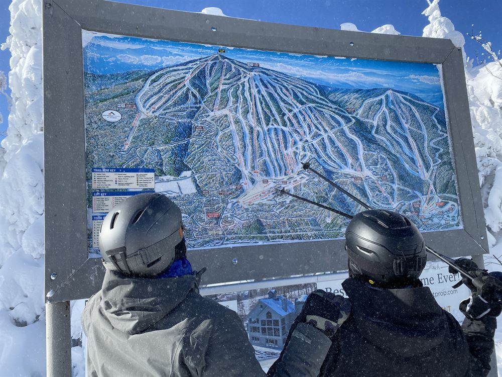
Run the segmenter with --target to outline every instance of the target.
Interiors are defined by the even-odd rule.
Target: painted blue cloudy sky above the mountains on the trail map
[[[296,55],[87,31],[82,33],[84,70],[96,74],[156,70],[215,54],[223,48],[229,58],[257,62],[261,67],[319,84],[339,88],[389,87],[411,92],[444,108],[439,72],[434,64]]]

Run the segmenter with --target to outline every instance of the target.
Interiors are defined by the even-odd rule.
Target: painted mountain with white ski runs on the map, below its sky
[[[331,87],[222,53],[84,82],[87,171],[154,168],[191,248],[343,237],[347,219],[280,195],[363,210],[307,161],[421,231],[462,227],[444,109],[413,93]]]

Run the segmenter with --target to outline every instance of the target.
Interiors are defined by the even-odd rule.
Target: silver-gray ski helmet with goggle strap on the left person
[[[99,250],[107,269],[152,277],[175,258],[183,238],[181,211],[162,194],[144,193],[115,206],[99,231]]]

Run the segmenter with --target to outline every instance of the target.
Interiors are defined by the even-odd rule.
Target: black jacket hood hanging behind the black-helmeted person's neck
[[[428,287],[383,290],[354,278],[342,286],[359,333],[384,350],[413,356],[437,347],[447,333],[443,310]]]

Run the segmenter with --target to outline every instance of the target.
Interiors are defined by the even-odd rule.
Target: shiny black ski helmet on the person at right
[[[385,210],[355,215],[345,230],[352,274],[370,284],[403,284],[418,279],[427,262],[422,234],[405,216]]]

